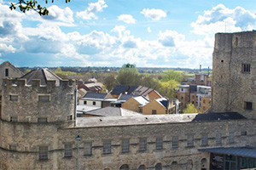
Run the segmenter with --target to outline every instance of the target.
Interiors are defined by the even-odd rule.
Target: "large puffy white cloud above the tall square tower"
[[[193,32],[199,35],[213,36],[216,32],[248,31],[256,26],[256,16],[245,8],[230,9],[218,4],[199,15],[191,26],[194,28]]]

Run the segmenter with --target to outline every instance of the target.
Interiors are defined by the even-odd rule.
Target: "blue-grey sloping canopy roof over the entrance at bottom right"
[[[256,148],[251,147],[230,147],[230,148],[205,148],[198,149],[202,152],[211,152],[215,154],[226,154],[233,156],[244,156],[244,157],[253,157],[256,158]]]

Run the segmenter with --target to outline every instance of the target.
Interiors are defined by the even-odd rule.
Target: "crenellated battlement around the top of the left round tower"
[[[42,84],[41,79],[32,79],[31,84],[26,83],[25,78],[3,78],[3,86],[10,87],[33,87],[33,88],[73,88],[75,87],[74,80],[47,80],[46,84]]]

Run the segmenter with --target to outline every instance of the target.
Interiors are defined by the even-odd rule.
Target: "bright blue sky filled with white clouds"
[[[15,66],[212,68],[215,33],[256,29],[255,0],[38,1],[48,16],[10,2],[0,0],[0,63]]]

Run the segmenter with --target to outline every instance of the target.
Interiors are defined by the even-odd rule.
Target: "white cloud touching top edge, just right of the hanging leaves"
[[[103,8],[107,8],[108,5],[104,0],[98,0],[96,3],[89,3],[89,7],[84,11],[77,12],[77,17],[83,20],[98,19],[96,12],[102,12]]]

